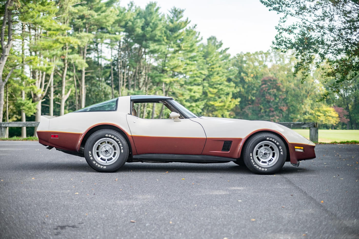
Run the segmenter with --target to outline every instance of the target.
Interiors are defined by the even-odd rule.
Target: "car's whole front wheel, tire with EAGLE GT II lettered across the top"
[[[278,172],[286,160],[285,142],[274,133],[257,133],[248,139],[243,149],[247,168],[258,174]]]

